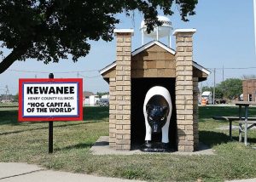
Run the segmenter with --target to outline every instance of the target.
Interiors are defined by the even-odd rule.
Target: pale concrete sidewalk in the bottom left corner
[[[26,163],[0,162],[0,182],[129,182],[138,180],[97,177],[83,173],[47,170]]]

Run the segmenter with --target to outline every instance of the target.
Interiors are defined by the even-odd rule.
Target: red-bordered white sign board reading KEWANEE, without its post
[[[83,120],[83,79],[20,79],[19,121]]]

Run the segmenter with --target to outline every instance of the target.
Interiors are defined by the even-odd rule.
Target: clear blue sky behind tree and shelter
[[[173,29],[195,28],[194,60],[198,64],[216,70],[216,83],[230,77],[241,78],[243,75],[256,75],[256,55],[254,48],[253,29],[253,0],[199,0],[195,9],[196,14],[189,17],[189,22],[180,20],[176,7],[172,7],[175,14],[168,17],[172,20]],[[161,13],[160,13],[161,14]],[[118,14],[121,23],[117,28],[133,28],[132,50],[141,46],[141,32],[139,31],[143,15],[135,12],[134,20],[124,14]],[[149,39],[147,39],[149,41]],[[166,43],[166,39],[161,39]],[[175,40],[172,37],[172,48]],[[4,50],[8,54],[8,50]],[[103,92],[108,91],[108,83],[100,77],[99,70],[109,65],[115,59],[115,39],[106,43],[91,42],[90,54],[81,58],[79,62],[60,60],[58,64],[44,65],[37,60],[17,61],[9,70],[0,75],[0,94],[4,94],[8,85],[10,94],[18,92],[19,78],[48,77],[49,72],[55,77],[83,77],[84,90]],[[255,67],[255,68],[249,68]],[[248,69],[230,69],[248,68]],[[29,72],[35,71],[35,72]],[[69,73],[60,73],[73,71]],[[203,86],[213,86],[213,71]]]

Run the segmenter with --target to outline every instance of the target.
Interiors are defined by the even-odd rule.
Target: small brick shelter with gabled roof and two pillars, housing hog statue
[[[174,32],[176,52],[158,41],[131,52],[133,31],[114,31],[116,60],[100,71],[109,83],[110,147],[127,151],[131,141],[143,142],[143,100],[149,88],[162,85],[172,96],[172,145],[178,151],[197,150],[198,82],[206,80],[210,71],[192,60],[194,33],[195,29]]]

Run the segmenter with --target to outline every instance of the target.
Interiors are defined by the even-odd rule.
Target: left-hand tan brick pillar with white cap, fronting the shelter
[[[133,30],[114,30],[116,46],[115,149],[131,149],[131,36]],[[109,123],[110,124],[110,123]]]

